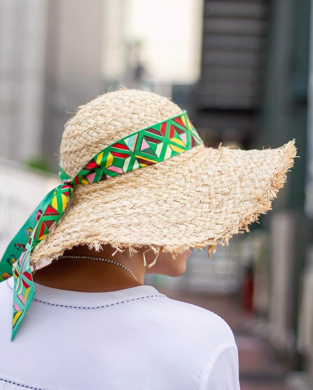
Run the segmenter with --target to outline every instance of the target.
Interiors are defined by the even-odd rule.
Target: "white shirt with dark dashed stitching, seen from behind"
[[[239,389],[233,333],[204,308],[146,285],[79,293],[35,283],[12,342],[13,284],[0,283],[0,390]]]

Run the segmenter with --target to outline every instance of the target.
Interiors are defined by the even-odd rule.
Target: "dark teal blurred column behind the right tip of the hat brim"
[[[258,144],[277,147],[296,138],[298,155],[274,210],[304,207],[308,80],[308,35],[311,0],[275,0]],[[268,219],[267,219],[268,221]]]

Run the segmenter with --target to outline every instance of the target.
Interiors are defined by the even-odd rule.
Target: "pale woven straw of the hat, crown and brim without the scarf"
[[[104,147],[181,112],[151,92],[104,94],[67,122],[63,168],[73,177]],[[189,247],[215,250],[271,209],[295,156],[294,141],[250,151],[199,145],[156,165],[78,185],[62,220],[33,252],[32,264],[79,244],[96,250],[102,244],[130,250],[146,245],[172,254]]]

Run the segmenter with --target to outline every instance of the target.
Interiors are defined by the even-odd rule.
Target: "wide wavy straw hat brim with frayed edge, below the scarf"
[[[156,165],[80,184],[31,262],[55,259],[77,245],[148,246],[172,254],[215,250],[271,209],[295,156],[294,140],[249,151],[199,145]]]

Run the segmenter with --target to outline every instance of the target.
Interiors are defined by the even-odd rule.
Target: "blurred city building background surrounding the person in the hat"
[[[310,0],[0,0],[0,250],[58,181],[65,122],[120,85],[172,97],[210,146],[296,138],[249,235],[147,282],[228,321],[243,390],[313,388],[312,25]]]

